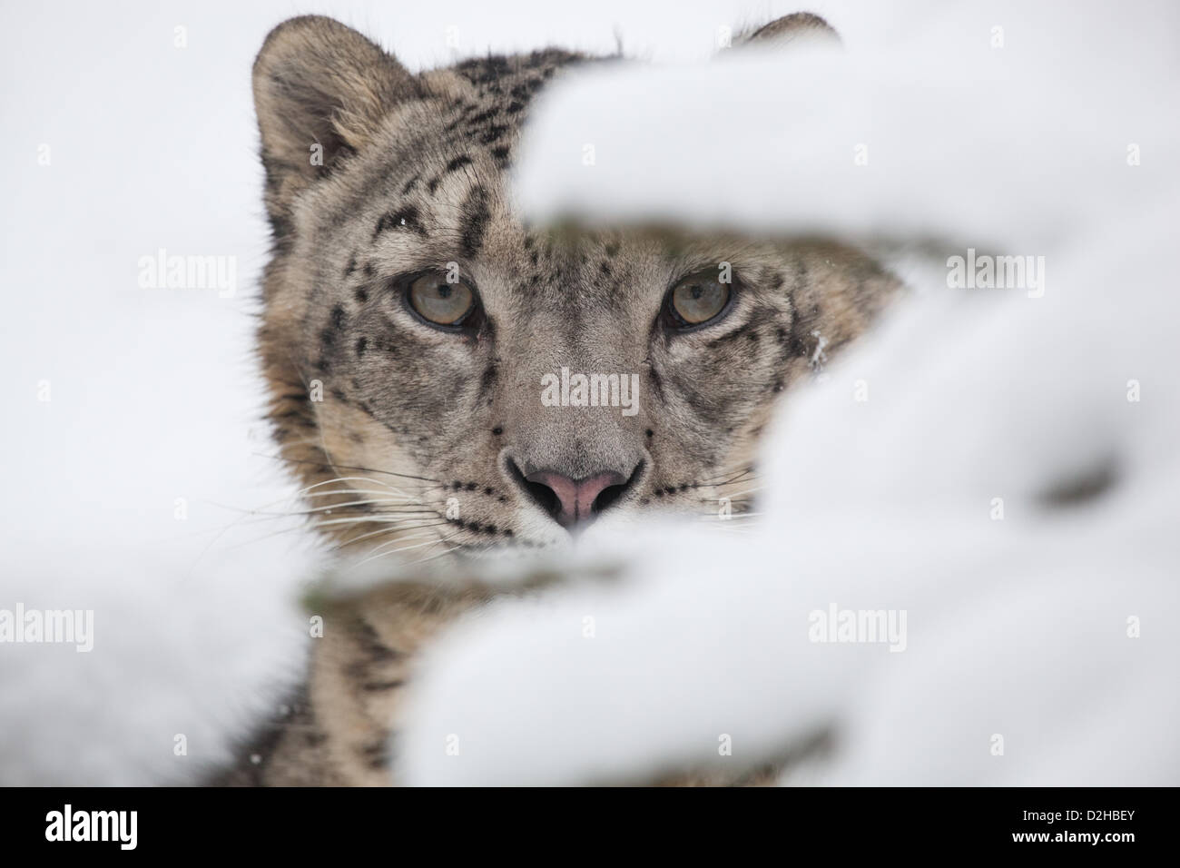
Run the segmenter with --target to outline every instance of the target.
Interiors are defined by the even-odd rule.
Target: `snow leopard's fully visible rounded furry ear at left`
[[[339,21],[303,15],[270,31],[254,61],[254,105],[271,220],[418,96],[421,85],[406,67]]]

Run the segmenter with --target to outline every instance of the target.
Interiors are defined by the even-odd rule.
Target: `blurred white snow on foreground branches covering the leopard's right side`
[[[734,771],[825,731],[787,782],[1180,783],[1180,13],[988,9],[549,94],[531,216],[822,231],[914,298],[788,402],[760,520],[599,536],[620,585],[572,566],[440,641],[408,783]],[[1043,295],[949,289],[968,248],[1044,256]],[[904,652],[811,641],[832,606],[905,612]]]

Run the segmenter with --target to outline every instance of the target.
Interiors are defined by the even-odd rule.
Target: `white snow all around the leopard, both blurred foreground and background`
[[[1027,6],[818,2],[843,53],[712,61],[719,27],[796,7],[6,8],[0,608],[93,609],[94,650],[0,648],[0,783],[194,779],[302,660],[313,547],[242,520],[290,494],[250,359],[248,72],[313,11],[412,68],[609,52],[617,25],[655,67],[552,94],[517,178],[532,215],[825,231],[918,296],[780,420],[760,524],[636,533],[601,547],[622,589],[571,567],[441,642],[409,781],[644,779],[831,729],[794,779],[1180,782],[1178,13]],[[236,292],[139,288],[159,248],[235,256]],[[968,248],[1044,256],[1043,295],[949,291]],[[809,641],[832,603],[905,611],[905,651]]]

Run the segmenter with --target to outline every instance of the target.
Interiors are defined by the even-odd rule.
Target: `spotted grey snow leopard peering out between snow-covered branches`
[[[835,38],[799,13],[733,45],[807,34]],[[620,63],[544,48],[412,73],[329,18],[267,37],[258,357],[277,455],[341,556],[461,574],[647,514],[740,516],[772,411],[897,294],[822,239],[525,221],[509,182],[537,94]],[[415,653],[496,593],[424,577],[309,603],[303,686],[215,783],[395,783]]]

